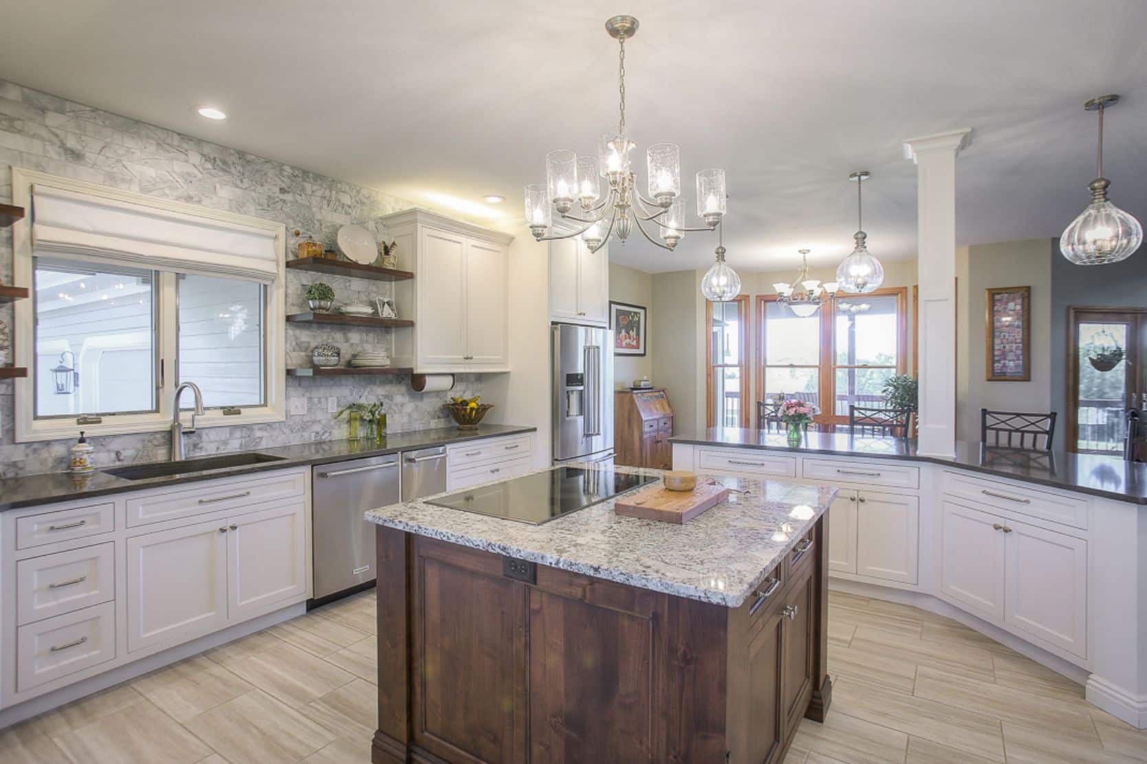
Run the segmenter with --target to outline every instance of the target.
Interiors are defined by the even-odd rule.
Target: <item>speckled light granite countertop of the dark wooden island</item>
[[[591,464],[577,466],[601,468]],[[657,470],[614,468],[661,474]],[[426,501],[370,510],[366,519],[571,573],[739,607],[836,496],[835,488],[822,486],[699,474],[712,476],[729,488],[747,489],[749,494],[729,494],[728,501],[684,525],[616,514],[615,499],[540,526],[435,506]],[[640,488],[621,496],[637,490]]]

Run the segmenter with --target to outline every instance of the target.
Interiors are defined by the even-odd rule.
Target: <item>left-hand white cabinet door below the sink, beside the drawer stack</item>
[[[127,539],[127,652],[227,624],[226,531],[220,520]]]

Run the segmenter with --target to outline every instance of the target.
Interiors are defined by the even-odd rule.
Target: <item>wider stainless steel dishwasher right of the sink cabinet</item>
[[[374,581],[374,526],[362,513],[398,503],[398,455],[314,466],[311,495],[313,607]]]

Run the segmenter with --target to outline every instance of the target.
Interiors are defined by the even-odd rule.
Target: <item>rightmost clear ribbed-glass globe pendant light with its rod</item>
[[[1099,112],[1099,170],[1087,184],[1091,204],[1060,236],[1060,252],[1077,266],[1106,266],[1130,258],[1144,241],[1144,229],[1134,216],[1107,200],[1103,178],[1103,110],[1118,103],[1117,95],[1101,95],[1084,104]]]

